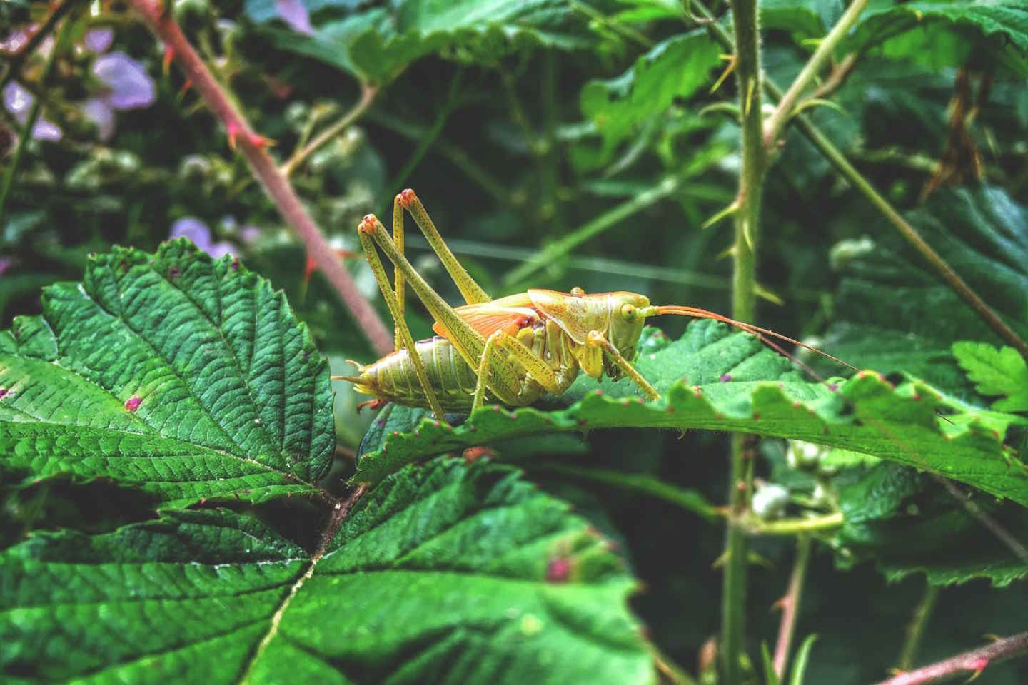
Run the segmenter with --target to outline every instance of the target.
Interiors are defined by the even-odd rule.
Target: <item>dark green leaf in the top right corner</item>
[[[842,49],[879,48],[886,56],[932,68],[965,67],[971,58],[1028,75],[1028,10],[1021,0],[921,0],[867,12]],[[978,50],[978,52],[976,52]],[[978,65],[980,68],[982,65]]]

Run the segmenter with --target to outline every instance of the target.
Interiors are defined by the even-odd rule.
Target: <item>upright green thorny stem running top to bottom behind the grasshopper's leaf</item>
[[[733,0],[735,76],[742,124],[742,169],[736,198],[735,242],[732,272],[732,316],[754,320],[756,312],[757,240],[764,186],[764,126],[761,113],[760,34],[757,0]],[[755,435],[733,435],[728,481],[730,517],[725,540],[725,581],[722,596],[722,670],[727,685],[741,682],[740,656],[745,640],[746,551],[745,530],[739,518],[746,510],[756,457]]]

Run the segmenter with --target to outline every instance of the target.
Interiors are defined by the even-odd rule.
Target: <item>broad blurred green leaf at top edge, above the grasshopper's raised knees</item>
[[[375,7],[326,22],[310,36],[270,27],[262,31],[280,49],[372,83],[387,83],[433,53],[495,64],[521,49],[574,50],[594,42],[586,16],[563,0],[415,0],[394,10]]]

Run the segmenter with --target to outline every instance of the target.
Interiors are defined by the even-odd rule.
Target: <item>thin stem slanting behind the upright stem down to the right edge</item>
[[[711,20],[711,23],[705,25],[710,35],[715,41],[718,41],[726,50],[732,51],[735,49],[732,37],[728,32],[717,22],[712,22],[713,14],[710,10],[706,8],[701,0],[692,0],[693,7],[697,13],[704,20]],[[764,79],[764,89],[767,90],[768,96],[771,100],[777,101],[782,98],[781,90],[773,83],[770,79]],[[1026,360],[1028,360],[1028,343],[1026,343],[1017,333],[1015,333],[1003,320],[989,307],[985,301],[979,297],[974,290],[967,286],[966,282],[953,270],[946,260],[944,260],[934,250],[931,249],[921,234],[911,226],[900,213],[896,212],[888,201],[882,197],[875,187],[871,185],[864,176],[860,175],[856,168],[849,163],[846,156],[835,147],[832,142],[817,128],[810,119],[803,115],[798,114],[794,117],[796,125],[799,127],[800,131],[807,137],[811,144],[817,148],[817,150],[824,156],[825,159],[831,162],[836,170],[839,172],[847,181],[849,181],[853,186],[868,198],[869,201],[877,208],[882,216],[892,226],[900,231],[900,234],[907,239],[911,245],[917,250],[925,260],[939,272],[939,274],[946,280],[947,284],[953,289],[953,291],[959,295],[963,300],[974,309],[978,315],[984,320],[989,328],[991,328],[1000,338],[1005,340],[1011,344]]]

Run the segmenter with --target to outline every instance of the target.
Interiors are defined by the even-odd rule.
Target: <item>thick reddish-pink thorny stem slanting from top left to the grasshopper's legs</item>
[[[392,351],[393,334],[386,329],[378,314],[357,290],[354,279],[342,268],[325,236],[303,208],[289,179],[279,170],[274,160],[264,150],[268,142],[250,127],[250,123],[232,104],[222,85],[214,78],[183,35],[182,30],[170,14],[163,12],[163,3],[160,0],[128,0],[128,2],[143,16],[150,30],[164,42],[166,49],[173,51],[175,62],[185,72],[186,78],[191,81],[208,108],[225,126],[229,141],[234,141],[240,146],[247,161],[250,162],[251,172],[260,180],[283,219],[296,231],[318,268],[328,277],[329,282],[342,298],[364,336],[379,353],[386,354]]]

